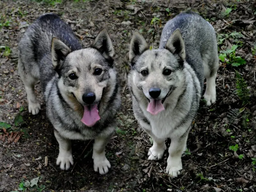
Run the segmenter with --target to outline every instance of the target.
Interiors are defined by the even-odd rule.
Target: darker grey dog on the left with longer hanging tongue
[[[34,85],[40,80],[47,117],[59,143],[56,164],[62,170],[74,162],[70,140],[94,139],[94,171],[105,174],[111,167],[105,146],[116,129],[113,117],[121,106],[113,56],[106,28],[92,47],[83,49],[71,28],[53,13],[41,15],[20,40],[18,72],[28,110],[39,113]]]

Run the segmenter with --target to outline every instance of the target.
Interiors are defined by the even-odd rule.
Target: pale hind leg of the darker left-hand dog
[[[35,75],[39,76],[39,68],[36,64],[31,65],[32,68],[26,69],[24,63],[19,59],[18,60],[18,71],[23,84],[25,85],[25,89],[27,92],[27,99],[28,99],[28,111],[33,115],[39,113],[41,109],[40,103],[36,99],[35,94],[35,84],[38,81],[38,78]],[[34,71],[33,71],[34,70]],[[31,73],[33,71],[33,74]]]

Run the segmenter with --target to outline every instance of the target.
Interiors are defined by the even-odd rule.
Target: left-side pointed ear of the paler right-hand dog
[[[139,31],[135,30],[130,43],[129,60],[132,62],[134,57],[141,55],[148,50],[148,44],[144,37],[140,35]]]

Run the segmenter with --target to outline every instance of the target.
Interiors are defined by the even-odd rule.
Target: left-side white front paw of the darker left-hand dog
[[[70,167],[70,164],[74,164],[73,156],[72,156],[72,150],[69,151],[60,151],[59,156],[57,158],[56,164],[60,164],[60,169],[62,170],[68,170]],[[65,168],[66,167],[66,168]]]

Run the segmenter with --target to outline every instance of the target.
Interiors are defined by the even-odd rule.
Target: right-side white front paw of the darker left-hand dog
[[[93,168],[95,172],[98,172],[101,175],[104,175],[108,172],[108,169],[111,168],[111,165],[105,156],[105,153],[92,155],[93,158]]]

